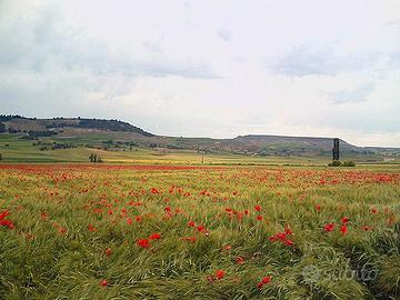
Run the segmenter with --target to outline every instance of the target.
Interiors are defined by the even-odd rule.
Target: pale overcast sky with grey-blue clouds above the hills
[[[400,1],[0,0],[0,113],[400,147]]]

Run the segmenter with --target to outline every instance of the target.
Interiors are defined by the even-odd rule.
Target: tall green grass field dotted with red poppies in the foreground
[[[399,299],[400,172],[371,168],[0,164],[1,298]]]

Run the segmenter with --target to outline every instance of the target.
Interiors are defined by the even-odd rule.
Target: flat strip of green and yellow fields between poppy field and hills
[[[74,132],[76,134],[77,132]],[[108,133],[109,134],[109,133]],[[4,162],[88,162],[89,156],[96,153],[107,163],[134,163],[134,164],[291,164],[291,166],[327,166],[329,157],[284,157],[284,156],[247,156],[229,152],[209,152],[201,154],[193,150],[178,149],[151,149],[149,147],[122,147],[101,149],[104,141],[110,139],[108,134],[88,134],[57,138],[41,138],[38,140],[21,139],[20,134],[0,134],[0,153]],[[199,141],[197,141],[199,142]],[[74,148],[41,150],[43,144],[53,143],[72,144]],[[361,164],[370,164],[376,160],[372,157],[358,158],[344,157],[344,160],[356,160]],[[399,164],[399,159],[384,163],[386,166]]]

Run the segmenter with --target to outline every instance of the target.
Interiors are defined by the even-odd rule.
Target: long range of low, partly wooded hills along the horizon
[[[53,140],[51,149],[94,147],[112,151],[131,147],[227,152],[246,156],[326,157],[332,154],[332,138],[249,134],[233,139],[157,136],[119,120],[87,118],[36,119],[0,116],[0,132],[22,139]],[[56,146],[54,146],[56,144]],[[48,147],[49,148],[49,147]],[[349,159],[383,161],[400,158],[398,148],[357,147],[340,140],[341,154]]]

